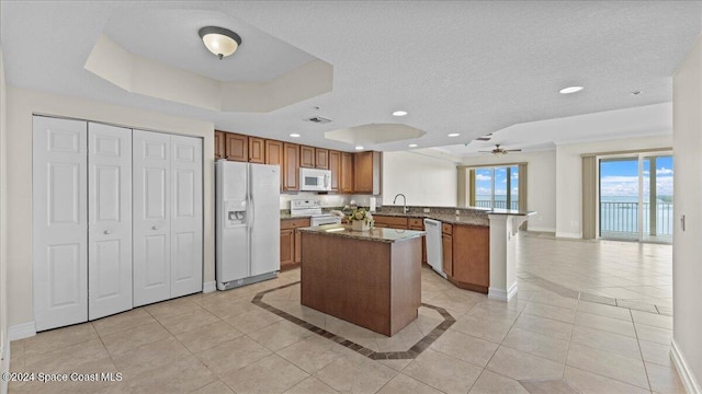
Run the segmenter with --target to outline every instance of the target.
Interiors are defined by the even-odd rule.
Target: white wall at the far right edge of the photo
[[[702,38],[673,76],[673,357],[689,393],[702,393]],[[682,231],[680,218],[686,218]],[[697,385],[697,387],[695,387]]]

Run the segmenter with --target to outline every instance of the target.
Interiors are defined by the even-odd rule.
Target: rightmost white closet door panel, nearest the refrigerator
[[[171,297],[202,291],[202,139],[171,136]]]

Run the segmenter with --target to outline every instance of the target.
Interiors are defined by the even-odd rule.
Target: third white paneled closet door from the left
[[[170,136],[134,130],[134,306],[171,297]]]

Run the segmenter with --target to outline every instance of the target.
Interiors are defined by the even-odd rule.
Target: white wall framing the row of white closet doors
[[[55,115],[103,121],[147,130],[203,137],[204,150],[204,281],[215,280],[214,265],[214,124],[155,112],[102,104],[53,93],[8,86],[7,188],[8,322],[32,323],[32,115]]]

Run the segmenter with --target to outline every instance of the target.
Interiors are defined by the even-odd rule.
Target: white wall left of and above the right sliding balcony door
[[[608,141],[559,144],[556,147],[556,236],[582,236],[584,153],[643,150],[672,147],[672,135]],[[676,177],[678,176],[678,164]],[[676,184],[678,182],[676,181]]]

